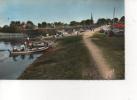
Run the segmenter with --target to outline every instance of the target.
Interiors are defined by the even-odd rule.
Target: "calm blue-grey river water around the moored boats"
[[[17,79],[22,72],[37,58],[40,54],[23,55],[10,57],[7,49],[12,49],[13,45],[19,46],[21,41],[0,41],[0,79]]]

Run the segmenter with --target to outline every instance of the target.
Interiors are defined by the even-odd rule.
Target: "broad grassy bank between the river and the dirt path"
[[[81,36],[56,42],[57,47],[39,57],[19,79],[100,79]]]

